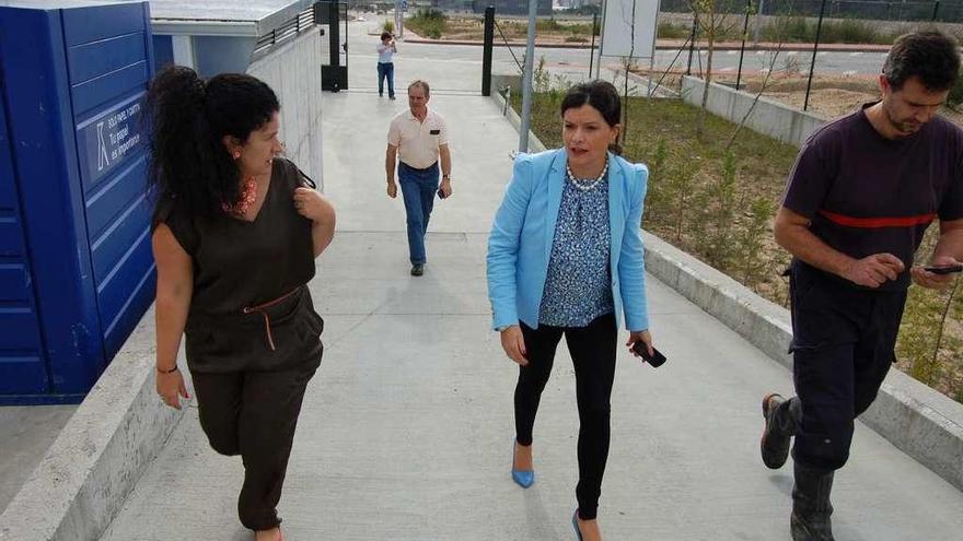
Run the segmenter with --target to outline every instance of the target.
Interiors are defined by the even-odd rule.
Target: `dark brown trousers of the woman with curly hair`
[[[244,485],[241,524],[252,530],[278,526],[277,505],[294,428],[316,363],[278,372],[192,373],[200,426],[221,455],[241,455]]]

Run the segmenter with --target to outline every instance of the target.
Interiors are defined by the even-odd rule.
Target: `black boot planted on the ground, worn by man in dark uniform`
[[[792,541],[835,541],[829,516],[833,505],[833,470],[822,470],[796,462],[792,486],[792,515],[789,531]]]

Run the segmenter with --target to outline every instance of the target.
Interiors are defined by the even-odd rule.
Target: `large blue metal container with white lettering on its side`
[[[0,259],[11,267],[0,267],[0,295],[22,297],[13,284],[31,284],[36,309],[10,301],[24,305],[11,305],[11,321],[38,329],[34,356],[47,377],[37,390],[0,372],[0,403],[81,398],[153,301],[142,122],[153,72],[149,21],[147,2],[0,8],[11,195],[28,255],[22,269]],[[5,238],[0,231],[0,255],[7,244],[18,249]],[[27,345],[0,331],[0,352],[16,353],[19,364]]]

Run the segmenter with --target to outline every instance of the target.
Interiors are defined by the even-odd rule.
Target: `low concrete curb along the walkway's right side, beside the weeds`
[[[503,106],[497,92],[491,98],[499,107]],[[507,116],[518,129],[512,115]],[[537,141],[532,137],[530,140]],[[642,237],[646,270],[650,274],[774,361],[792,368],[792,357],[787,353],[792,339],[789,310],[661,238],[646,231]],[[894,368],[886,375],[877,400],[859,420],[963,491],[963,404]]]

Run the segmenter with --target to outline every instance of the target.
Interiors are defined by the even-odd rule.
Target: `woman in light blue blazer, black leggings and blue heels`
[[[535,481],[532,428],[562,334],[579,404],[578,539],[602,539],[595,519],[608,458],[617,328],[651,353],[640,232],[648,169],[618,154],[618,92],[592,81],[561,104],[564,149],[515,158],[488,239],[492,327],[519,364],[512,479]],[[614,151],[614,152],[613,152]]]

